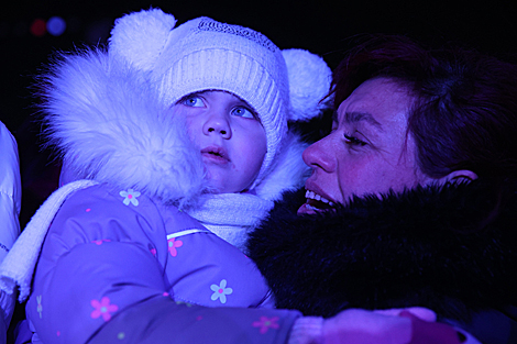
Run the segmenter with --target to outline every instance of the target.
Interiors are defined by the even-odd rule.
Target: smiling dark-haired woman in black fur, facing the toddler
[[[516,66],[376,37],[332,85],[306,190],[249,241],[277,307],[419,304],[483,343],[515,343]]]

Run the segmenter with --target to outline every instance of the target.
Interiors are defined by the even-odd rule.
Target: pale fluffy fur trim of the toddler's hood
[[[101,48],[62,56],[41,84],[48,144],[64,159],[68,181],[94,179],[193,206],[207,189],[201,156],[151,79]],[[300,186],[305,147],[288,135],[255,189],[258,197],[275,200]]]

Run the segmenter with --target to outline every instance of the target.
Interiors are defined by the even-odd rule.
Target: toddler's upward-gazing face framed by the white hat
[[[253,109],[223,91],[182,98],[175,112],[186,119],[199,147],[210,186],[218,193],[245,191],[255,180],[267,151],[266,134]]]

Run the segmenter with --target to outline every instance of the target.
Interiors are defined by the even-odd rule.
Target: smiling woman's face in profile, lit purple
[[[415,142],[407,135],[413,98],[387,78],[358,87],[339,107],[332,132],[304,152],[312,168],[306,182],[307,203],[298,213],[312,213],[346,203],[353,195],[414,188],[430,180],[418,167]]]

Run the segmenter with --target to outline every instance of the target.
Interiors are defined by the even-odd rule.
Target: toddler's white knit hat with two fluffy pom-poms
[[[174,104],[186,95],[204,90],[228,91],[246,101],[258,114],[267,142],[267,153],[253,185],[256,186],[274,165],[287,120],[310,119],[320,112],[319,100],[329,89],[330,69],[308,52],[282,52],[251,29],[209,18],[194,19],[173,29],[175,24],[174,16],[160,9],[124,15],[111,32],[109,53],[148,71],[166,103]],[[299,109],[292,107],[287,55],[310,60],[302,67],[298,64],[298,68],[307,69],[305,75],[310,75],[304,95],[299,95],[299,88],[294,95],[305,98]]]

